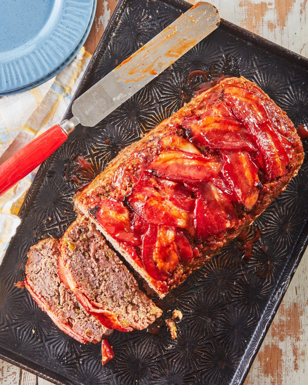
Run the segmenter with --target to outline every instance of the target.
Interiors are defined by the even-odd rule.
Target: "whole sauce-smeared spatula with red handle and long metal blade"
[[[217,9],[199,2],[124,60],[72,104],[70,120],[38,136],[0,166],[0,195],[39,166],[77,126],[93,127],[219,25]]]

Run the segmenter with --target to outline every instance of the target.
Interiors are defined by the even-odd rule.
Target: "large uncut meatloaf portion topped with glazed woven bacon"
[[[251,224],[302,161],[285,112],[253,82],[226,78],[123,149],[75,207],[163,297]]]

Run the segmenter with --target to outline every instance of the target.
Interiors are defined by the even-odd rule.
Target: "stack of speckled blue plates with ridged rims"
[[[57,75],[89,35],[96,0],[0,0],[0,96]]]

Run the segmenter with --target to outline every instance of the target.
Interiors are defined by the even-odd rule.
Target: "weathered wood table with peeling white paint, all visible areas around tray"
[[[198,2],[189,0],[192,4]],[[302,56],[308,55],[306,0],[209,0],[221,17]],[[98,0],[85,48],[93,54],[116,6]],[[308,85],[307,85],[308,86]],[[308,183],[308,182],[307,182]],[[308,251],[304,254],[244,385],[308,383]],[[1,385],[49,382],[0,360]]]

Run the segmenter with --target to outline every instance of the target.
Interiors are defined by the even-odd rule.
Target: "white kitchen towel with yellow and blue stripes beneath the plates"
[[[53,79],[32,90],[0,97],[0,164],[62,120],[90,59],[82,47]],[[0,264],[20,224],[17,214],[36,171],[0,197]]]

